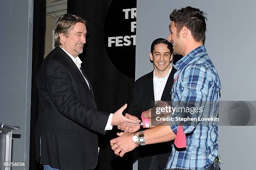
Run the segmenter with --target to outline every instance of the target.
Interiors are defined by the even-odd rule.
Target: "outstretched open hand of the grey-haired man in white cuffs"
[[[132,120],[128,117],[124,117],[123,116],[123,110],[125,110],[125,108],[127,107],[127,104],[125,103],[125,105],[123,105],[120,109],[118,109],[112,117],[112,125],[139,125],[139,122],[141,122],[141,120]]]

